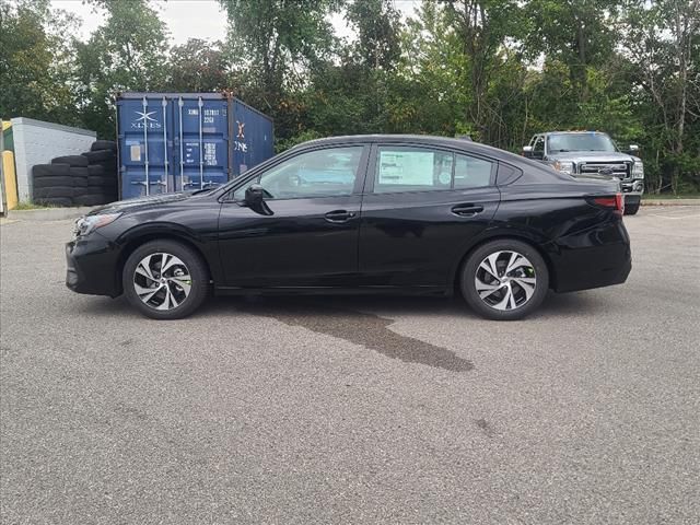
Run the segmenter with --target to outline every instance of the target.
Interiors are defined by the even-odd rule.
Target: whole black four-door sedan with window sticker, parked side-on
[[[125,200],[75,223],[67,285],[173,319],[211,292],[460,293],[491,319],[547,291],[625,282],[616,180],[475,142],[357,136],[300,144],[211,190]]]

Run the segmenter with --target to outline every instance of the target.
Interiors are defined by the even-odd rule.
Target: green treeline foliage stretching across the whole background
[[[174,47],[150,0],[86,1],[104,22],[81,42],[48,0],[0,0],[3,117],[113,137],[118,91],[231,91],[273,117],[278,150],[599,129],[640,144],[650,190],[700,189],[700,0],[423,0],[408,19],[393,0],[219,0],[226,40]]]

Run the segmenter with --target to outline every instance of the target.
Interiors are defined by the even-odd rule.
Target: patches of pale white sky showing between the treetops
[[[420,0],[394,0],[394,5],[404,16],[411,14],[419,3]],[[188,38],[223,40],[225,37],[226,15],[214,0],[154,0],[152,4],[170,30],[172,44],[185,44]],[[82,0],[51,0],[51,5],[82,19],[81,39],[88,39],[104,20],[94,7],[84,4]],[[341,15],[334,15],[331,23],[337,35],[352,37]]]

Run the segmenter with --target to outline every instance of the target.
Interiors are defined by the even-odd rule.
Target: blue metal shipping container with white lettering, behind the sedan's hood
[[[117,97],[122,199],[218,186],[275,154],[272,120],[220,93]]]

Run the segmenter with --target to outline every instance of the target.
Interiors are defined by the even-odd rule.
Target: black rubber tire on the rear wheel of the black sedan
[[[491,259],[489,265],[487,258],[495,254],[500,255]],[[512,259],[513,254],[520,255],[529,264],[517,265],[518,260],[523,260]],[[486,266],[481,266],[482,261]],[[516,266],[509,273],[501,275],[511,261],[516,262]],[[493,269],[493,271],[499,273],[495,277],[486,269]],[[477,280],[480,282],[479,290]],[[534,290],[530,288],[533,284]],[[549,270],[539,252],[529,244],[509,238],[491,241],[479,246],[466,259],[459,285],[465,301],[480,316],[493,320],[515,320],[529,315],[541,304],[549,289]],[[491,293],[483,298],[479,295],[479,292],[489,291]]]

